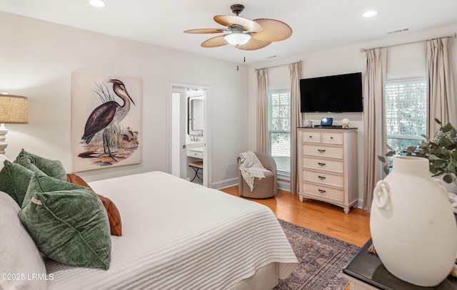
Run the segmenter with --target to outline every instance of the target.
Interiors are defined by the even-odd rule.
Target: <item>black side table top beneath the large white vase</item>
[[[393,276],[377,255],[368,253],[371,239],[358,251],[343,268],[343,274],[351,282],[351,290],[385,289],[385,290],[456,290],[457,278],[448,276],[436,287],[423,287],[410,284]]]

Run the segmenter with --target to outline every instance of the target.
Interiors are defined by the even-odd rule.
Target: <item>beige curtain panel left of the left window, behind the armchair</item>
[[[267,152],[268,143],[268,77],[266,68],[257,70],[257,151]]]

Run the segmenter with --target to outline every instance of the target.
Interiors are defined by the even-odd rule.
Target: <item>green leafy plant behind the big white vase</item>
[[[443,126],[440,120],[435,119],[435,122],[441,125],[441,128],[432,139],[428,139],[424,135],[423,138],[426,140],[423,140],[417,147],[411,146],[397,153],[387,145],[388,152],[385,157],[378,156],[378,160],[386,163],[383,166],[386,175],[392,167],[389,157],[395,155],[417,156],[428,159],[433,177],[443,175],[444,182],[453,182],[457,175],[457,130],[451,123]]]

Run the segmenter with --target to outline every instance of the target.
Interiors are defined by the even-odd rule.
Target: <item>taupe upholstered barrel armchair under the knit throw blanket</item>
[[[265,178],[254,179],[253,190],[249,188],[246,181],[243,180],[241,171],[238,170],[238,195],[242,197],[249,198],[268,198],[274,197],[277,192],[277,173],[276,173],[276,162],[273,157],[266,153],[254,152],[261,162],[263,167],[265,167],[267,172],[264,172]],[[241,164],[241,160],[238,158],[238,167]]]

